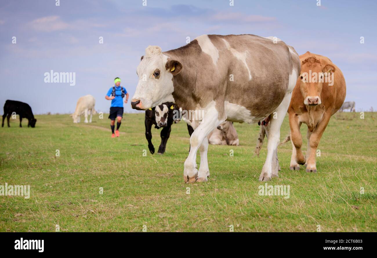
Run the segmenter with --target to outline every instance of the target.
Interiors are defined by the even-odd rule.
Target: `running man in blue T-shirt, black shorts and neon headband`
[[[114,86],[109,89],[105,99],[111,100],[110,106],[110,115],[109,118],[111,119],[110,127],[112,131],[112,138],[119,137],[119,127],[123,118],[123,98],[126,96],[124,103],[128,102],[128,93],[126,88],[120,86],[120,79],[116,77],[114,79]],[[116,122],[116,131],[115,129],[115,118],[117,119]]]

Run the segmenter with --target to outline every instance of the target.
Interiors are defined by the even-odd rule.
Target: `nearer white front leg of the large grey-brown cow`
[[[225,116],[225,114],[223,115]],[[185,164],[184,164],[184,171],[183,171],[183,179],[186,183],[193,183],[196,182],[196,180],[199,179],[198,169],[196,169],[196,152],[198,151],[198,148],[202,145],[202,142],[204,139],[206,139],[207,134],[210,133],[213,129],[218,127],[219,124],[225,121],[226,118],[219,120],[219,112],[216,110],[215,106],[208,108],[207,112],[205,113],[204,118],[202,119],[202,122],[199,124],[199,126],[194,130],[190,137],[190,154],[187,157]],[[207,147],[206,147],[207,146]],[[207,145],[203,145],[203,151],[201,153],[201,163],[202,161],[207,163],[207,149],[208,149],[208,140]],[[205,159],[203,159],[205,155]],[[199,170],[201,171],[200,176],[204,176],[204,174],[207,173],[207,167],[205,166],[205,163],[203,163],[203,168],[199,167]],[[208,171],[209,173],[209,171]],[[199,180],[200,182],[205,181],[204,178],[201,178]]]

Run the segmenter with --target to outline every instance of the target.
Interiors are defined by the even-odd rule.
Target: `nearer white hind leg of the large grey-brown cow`
[[[283,123],[285,114],[287,113],[289,102],[291,101],[291,95],[291,92],[285,95],[283,101],[275,110],[276,118],[274,118],[275,116],[273,115],[269,125],[265,127],[268,139],[267,158],[262,168],[261,175],[259,176],[259,181],[268,181],[271,177],[278,176],[279,163],[277,160],[277,145],[280,141],[280,127]]]

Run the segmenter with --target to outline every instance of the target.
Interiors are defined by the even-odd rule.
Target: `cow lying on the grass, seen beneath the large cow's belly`
[[[238,134],[233,122],[222,122],[208,134],[208,142],[213,145],[239,145]]]

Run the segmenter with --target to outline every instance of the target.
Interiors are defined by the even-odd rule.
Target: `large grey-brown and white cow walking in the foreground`
[[[146,110],[171,101],[182,110],[204,113],[201,118],[186,119],[195,130],[184,162],[186,183],[207,181],[208,133],[225,120],[256,123],[271,114],[276,119],[271,119],[266,132],[268,153],[259,180],[278,176],[273,168],[278,167],[280,126],[300,73],[293,47],[272,37],[202,35],[167,52],[158,46],[147,47],[136,72],[139,82],[132,108]]]

